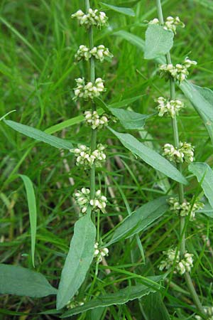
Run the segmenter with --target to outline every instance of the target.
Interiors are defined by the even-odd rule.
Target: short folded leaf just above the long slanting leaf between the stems
[[[145,125],[146,119],[152,117],[148,114],[141,114],[129,110],[109,108],[112,114],[119,119],[125,129],[142,129]]]

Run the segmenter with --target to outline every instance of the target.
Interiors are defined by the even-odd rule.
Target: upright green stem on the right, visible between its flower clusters
[[[160,0],[156,0],[156,8],[158,12],[158,19],[161,25],[164,24],[163,20],[163,11]],[[170,52],[166,55],[167,63],[172,63]],[[175,100],[175,80],[170,78],[170,100]],[[176,116],[173,117],[173,135],[174,135],[174,142],[175,147],[179,147],[179,132],[178,132],[178,121]],[[177,168],[182,173],[182,164],[177,164]],[[179,202],[182,203],[184,201],[184,188],[182,183],[178,183],[178,198]],[[180,257],[183,257],[185,254],[185,217],[180,217]],[[200,302],[199,297],[197,296],[197,292],[195,291],[195,287],[192,284],[192,279],[190,277],[189,272],[185,272],[185,282],[187,283],[187,287],[192,295],[192,299],[197,306],[197,309],[204,314],[204,309]]]

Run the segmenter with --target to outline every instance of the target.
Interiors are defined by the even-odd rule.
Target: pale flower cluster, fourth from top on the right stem
[[[180,147],[176,148],[173,144],[165,144],[163,146],[163,156],[168,160],[182,163],[185,161],[187,164],[194,161],[194,147],[187,142],[180,142]]]

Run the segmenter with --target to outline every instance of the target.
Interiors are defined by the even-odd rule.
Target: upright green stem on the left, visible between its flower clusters
[[[89,12],[89,0],[85,0],[86,13]],[[93,41],[93,28],[89,27],[89,49],[94,47]],[[95,68],[94,68],[94,57],[90,58],[90,81],[94,82],[95,80]],[[92,103],[92,111],[96,111],[96,106]],[[97,129],[92,129],[91,133],[91,151],[94,151],[97,146]],[[91,199],[94,199],[95,194],[95,164],[92,165],[91,173],[90,173],[90,194]]]

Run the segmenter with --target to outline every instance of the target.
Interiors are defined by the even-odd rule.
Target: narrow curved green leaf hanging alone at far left
[[[31,252],[32,252],[32,262],[33,267],[35,267],[35,236],[36,236],[36,227],[37,227],[37,210],[36,210],[36,201],[35,193],[33,188],[33,183],[28,176],[20,174],[24,186],[26,188],[26,194],[28,199],[28,209],[30,215],[30,224],[31,224]]]

